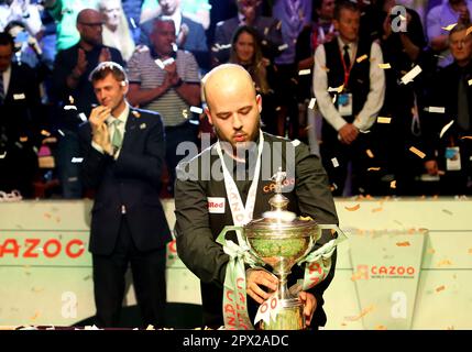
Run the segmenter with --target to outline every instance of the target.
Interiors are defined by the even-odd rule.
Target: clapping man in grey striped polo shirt
[[[136,50],[128,63],[133,106],[158,112],[164,121],[167,190],[174,195],[175,167],[185,156],[177,154],[182,142],[197,143],[198,127],[191,121],[191,107],[200,106],[198,64],[190,52],[174,51],[175,25],[167,16],[154,20],[153,46]]]

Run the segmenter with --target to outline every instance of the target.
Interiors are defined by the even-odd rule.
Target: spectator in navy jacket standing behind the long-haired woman
[[[211,48],[213,65],[224,64],[230,58],[231,40],[237,29],[249,25],[257,31],[264,57],[271,62],[279,55],[278,47],[283,44],[281,25],[273,18],[260,15],[261,0],[235,0],[238,15],[217,23],[215,43]]]

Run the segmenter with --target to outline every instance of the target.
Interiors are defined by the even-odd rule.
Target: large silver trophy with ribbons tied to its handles
[[[264,263],[273,268],[278,277],[278,289],[259,308],[255,323],[263,330],[303,330],[306,328],[304,305],[298,298],[306,290],[325,279],[331,266],[331,255],[336,246],[345,240],[345,234],[336,224],[318,224],[311,218],[297,217],[287,211],[288,199],[282,194],[286,173],[281,169],[273,176],[275,195],[270,199],[271,210],[261,219],[252,220],[243,227],[226,227],[218,237],[224,252],[230,255],[224,282],[224,296],[229,292],[245,295],[244,264],[256,266]],[[338,232],[338,238],[312,251],[321,238],[322,230]],[[239,245],[226,240],[226,233],[235,231]],[[292,267],[305,265],[305,277],[287,287],[287,277]],[[312,270],[316,267],[317,270]],[[239,274],[238,274],[239,273]],[[245,297],[245,296],[244,296]],[[245,302],[240,300],[238,308]],[[223,316],[226,298],[223,297]],[[245,307],[238,312],[240,327],[251,326]],[[237,327],[238,328],[238,327]]]

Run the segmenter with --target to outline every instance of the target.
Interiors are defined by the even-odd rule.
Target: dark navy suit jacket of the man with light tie
[[[117,242],[122,208],[134,244],[140,251],[162,249],[171,231],[160,200],[164,164],[164,127],[158,113],[130,109],[123,144],[117,161],[91,146],[91,127],[79,129],[83,182],[96,190],[91,210],[90,245],[94,254],[111,254]]]

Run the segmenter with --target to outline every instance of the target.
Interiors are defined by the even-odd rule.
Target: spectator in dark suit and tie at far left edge
[[[41,145],[40,88],[35,72],[13,63],[14,43],[0,33],[0,190],[34,196],[35,148]]]

